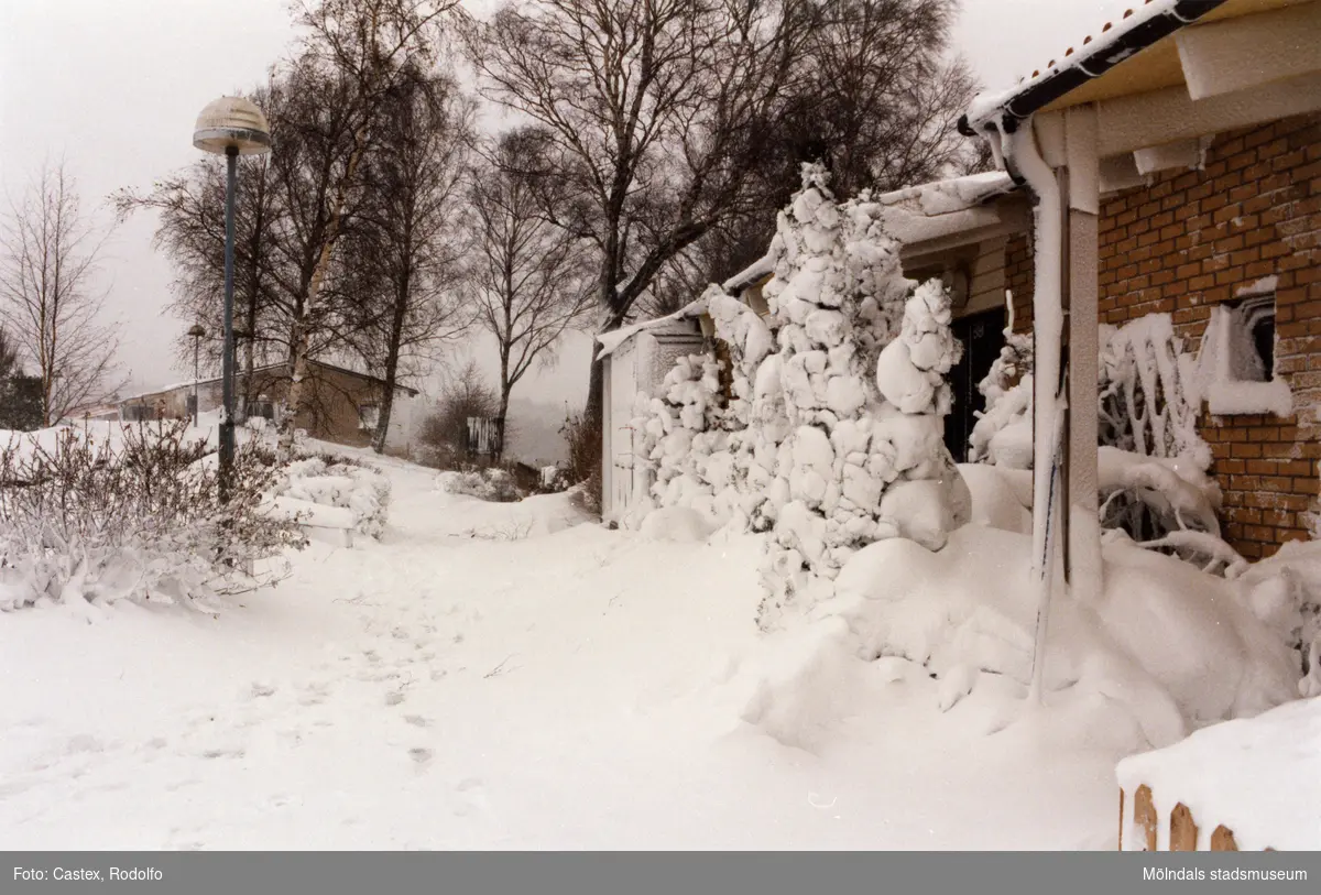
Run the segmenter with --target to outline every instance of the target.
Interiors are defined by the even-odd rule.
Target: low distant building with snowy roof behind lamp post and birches
[[[322,441],[357,448],[370,445],[380,418],[384,380],[320,360],[308,362],[308,375],[305,407],[295,422],[296,428],[305,429],[309,437]],[[279,425],[283,421],[280,408],[289,393],[288,367],[283,363],[259,367],[252,372],[251,401],[244,401],[243,391],[244,379],[239,375],[235,381],[239,420],[263,417],[272,425]],[[89,411],[89,416],[127,422],[181,420],[193,414],[193,393],[192,381],[178,383],[118,399],[108,407]],[[202,413],[213,413],[221,408],[218,376],[197,383],[197,393]],[[386,448],[391,451],[404,451],[408,446],[416,397],[416,389],[406,385],[395,387],[390,433],[386,438]]]

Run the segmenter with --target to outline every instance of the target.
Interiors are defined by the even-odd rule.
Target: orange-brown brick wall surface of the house
[[[1254,558],[1309,537],[1321,510],[1321,116],[1219,135],[1201,170],[1166,172],[1102,203],[1103,322],[1168,313],[1196,351],[1211,306],[1268,276],[1279,277],[1275,372],[1296,413],[1201,421],[1225,492],[1226,539]],[[1026,330],[1026,236],[1009,239],[1005,277],[1015,329]]]

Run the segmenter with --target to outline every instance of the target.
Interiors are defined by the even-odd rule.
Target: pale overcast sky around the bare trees
[[[999,88],[1124,7],[964,0],[955,40],[982,82]],[[292,37],[285,0],[0,0],[0,194],[20,193],[45,158],[63,157],[85,207],[110,223],[106,197],[148,189],[197,158],[197,112],[262,81]],[[188,325],[165,313],[170,269],[152,249],[153,231],[148,216],[120,226],[102,271],[107,309],[124,325],[122,366],[136,387],[190,374],[172,366],[170,341]],[[579,400],[588,345],[572,339],[559,368],[523,393]]]

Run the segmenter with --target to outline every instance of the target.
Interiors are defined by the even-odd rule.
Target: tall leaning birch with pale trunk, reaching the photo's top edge
[[[291,383],[280,432],[283,450],[293,445],[293,424],[304,404],[313,335],[318,323],[330,317],[320,306],[321,288],[330,273],[353,194],[362,187],[359,168],[379,137],[390,96],[408,77],[407,70],[425,70],[435,62],[441,16],[454,5],[457,0],[313,0],[295,18],[304,38],[301,53],[291,66],[289,100],[320,106],[322,119],[306,123],[329,125],[320,128],[320,136],[325,147],[338,152],[312,172],[317,181],[313,195],[300,197],[312,203],[310,220],[305,220],[310,227],[300,240],[312,251],[305,251],[300,259],[306,276],[300,277],[289,330]],[[305,92],[318,86],[329,94],[310,96]],[[292,199],[299,194],[287,190],[287,195]]]

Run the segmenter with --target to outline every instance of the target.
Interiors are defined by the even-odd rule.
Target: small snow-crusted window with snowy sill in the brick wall
[[[1293,412],[1289,385],[1275,375],[1273,277],[1211,309],[1197,367],[1201,396],[1215,416]]]

